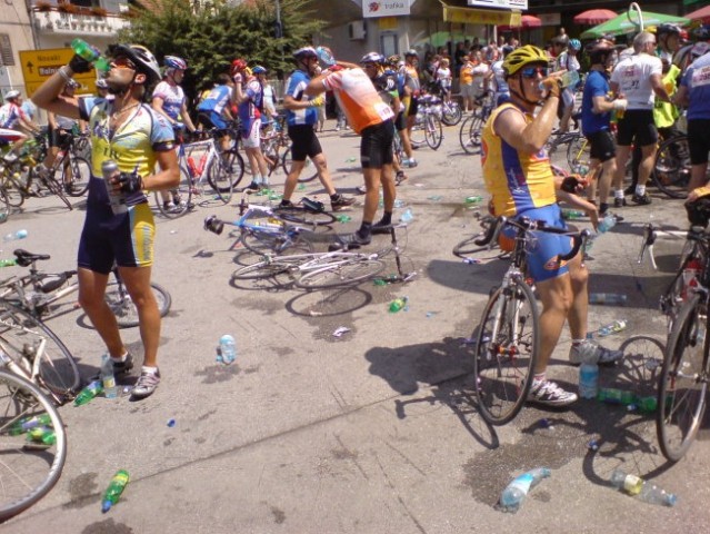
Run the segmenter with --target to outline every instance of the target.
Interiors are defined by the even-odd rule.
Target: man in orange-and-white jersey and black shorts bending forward
[[[392,142],[394,112],[382,101],[368,75],[354,63],[337,61],[316,76],[306,88],[306,95],[316,97],[332,91],[342,106],[348,122],[361,136],[360,162],[364,178],[364,207],[358,231],[349,236],[348,245],[369,245],[372,224],[379,204],[380,184],[393,184]],[[386,206],[387,209],[387,206]]]

